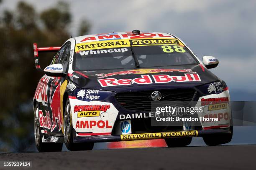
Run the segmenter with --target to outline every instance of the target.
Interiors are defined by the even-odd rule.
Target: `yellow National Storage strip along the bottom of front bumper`
[[[163,132],[163,133],[140,133],[140,134],[127,134],[120,135],[122,141],[128,140],[148,140],[148,139],[161,139],[161,138],[178,138],[178,137],[196,137],[197,130],[180,131],[180,132]]]

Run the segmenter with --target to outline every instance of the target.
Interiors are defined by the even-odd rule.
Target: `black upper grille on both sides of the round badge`
[[[158,90],[161,92],[160,101],[191,101],[195,95],[192,89]],[[116,100],[125,109],[133,111],[151,111],[151,93],[154,90],[140,92],[121,92],[115,95]]]

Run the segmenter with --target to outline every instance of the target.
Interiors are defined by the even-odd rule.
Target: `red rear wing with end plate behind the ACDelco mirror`
[[[56,52],[61,48],[61,47],[37,47],[36,43],[33,43],[33,47],[34,47],[35,65],[37,70],[41,70],[41,67],[39,64],[38,52]]]

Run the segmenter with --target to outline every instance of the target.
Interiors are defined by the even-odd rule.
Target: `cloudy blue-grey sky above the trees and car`
[[[3,0],[0,11],[15,9],[18,1]],[[58,2],[24,1],[38,12]],[[169,32],[181,38],[201,60],[204,55],[217,57],[220,64],[211,71],[225,80],[230,91],[256,96],[255,0],[64,1],[70,4],[73,37],[83,18],[91,22],[91,34],[135,29]]]

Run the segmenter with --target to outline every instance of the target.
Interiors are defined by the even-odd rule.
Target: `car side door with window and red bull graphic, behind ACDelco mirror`
[[[69,53],[70,53],[70,42],[64,44],[60,50],[55,55],[51,64],[60,63],[63,65],[64,72],[67,73],[68,61],[69,61]],[[67,86],[66,76],[62,77],[49,77],[48,81],[48,112],[51,117],[51,129],[50,133],[63,133],[63,109],[62,109],[62,100],[61,100],[61,89],[65,90],[66,87],[62,88],[62,86]],[[66,80],[66,83],[65,83]]]

